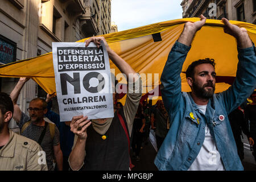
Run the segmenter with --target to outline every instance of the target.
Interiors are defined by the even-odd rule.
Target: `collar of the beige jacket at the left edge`
[[[9,129],[10,138],[5,146],[0,151],[0,156],[4,158],[13,158],[16,145],[16,136],[12,130]]]

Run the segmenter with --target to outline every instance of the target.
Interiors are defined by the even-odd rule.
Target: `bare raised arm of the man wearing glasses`
[[[22,111],[20,110],[19,106],[17,105],[17,100],[19,97],[20,90],[23,88],[23,85],[28,80],[30,80],[30,78],[20,77],[18,83],[14,87],[13,91],[10,93],[10,97],[11,97],[11,100],[13,101],[13,105],[14,105],[13,118],[17,123],[19,123],[20,118],[22,117]]]

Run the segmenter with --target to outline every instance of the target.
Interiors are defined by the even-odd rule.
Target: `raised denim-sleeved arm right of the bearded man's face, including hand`
[[[256,86],[256,56],[255,46],[245,28],[231,24],[222,18],[225,24],[224,32],[234,36],[237,40],[238,65],[237,75],[232,86],[220,96],[224,100],[226,111],[229,114],[253,93]]]

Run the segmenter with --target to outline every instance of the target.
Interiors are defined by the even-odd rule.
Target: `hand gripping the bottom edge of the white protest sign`
[[[79,139],[85,140],[87,138],[86,129],[92,122],[88,120],[88,117],[83,115],[74,116],[70,123],[71,131],[78,136]]]

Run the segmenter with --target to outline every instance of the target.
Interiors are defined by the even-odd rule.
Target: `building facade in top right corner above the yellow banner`
[[[183,0],[181,6],[183,18],[199,17],[203,14],[210,19],[228,18],[256,23],[255,0]]]

